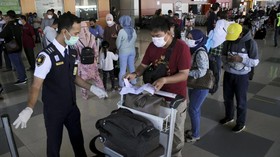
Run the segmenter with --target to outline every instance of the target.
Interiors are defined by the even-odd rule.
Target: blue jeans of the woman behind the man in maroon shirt
[[[209,90],[208,89],[189,89],[189,116],[191,119],[191,125],[192,125],[192,136],[193,137],[199,137],[200,132],[200,109],[201,106],[205,100],[205,98],[208,95]]]

